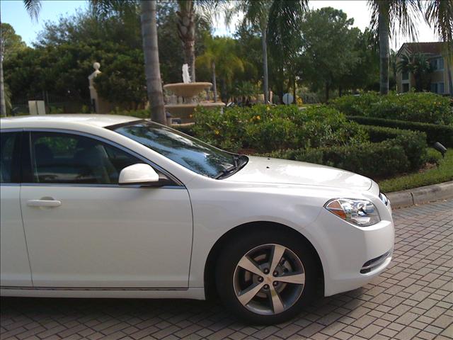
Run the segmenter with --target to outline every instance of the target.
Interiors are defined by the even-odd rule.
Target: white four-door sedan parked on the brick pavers
[[[217,294],[269,324],[391,261],[390,203],[363,176],[231,154],[132,117],[0,122],[2,296]]]

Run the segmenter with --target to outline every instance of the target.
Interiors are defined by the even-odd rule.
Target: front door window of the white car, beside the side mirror
[[[61,132],[32,132],[34,183],[117,184],[137,157],[93,138]]]

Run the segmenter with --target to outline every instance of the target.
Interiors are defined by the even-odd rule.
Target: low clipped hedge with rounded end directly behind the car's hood
[[[365,126],[371,142],[343,147],[286,149],[266,156],[324,164],[385,179],[420,169],[431,159],[424,132]]]

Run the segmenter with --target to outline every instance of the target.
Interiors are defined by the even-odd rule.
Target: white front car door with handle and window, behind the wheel
[[[193,222],[184,186],[119,186],[121,169],[147,160],[97,137],[28,138],[21,207],[35,287],[188,286]]]

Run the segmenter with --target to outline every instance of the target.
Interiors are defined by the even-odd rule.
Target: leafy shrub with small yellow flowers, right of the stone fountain
[[[360,125],[328,106],[256,105],[224,112],[198,107],[193,133],[212,145],[236,152],[356,145],[367,140]]]

